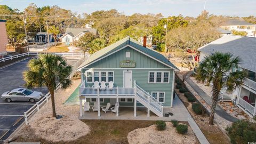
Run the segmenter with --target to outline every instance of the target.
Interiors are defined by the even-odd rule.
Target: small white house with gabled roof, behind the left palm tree
[[[95,36],[98,36],[98,30],[95,28],[67,28],[66,33],[60,37],[61,42],[66,45],[73,45],[79,40],[85,33],[90,32]]]

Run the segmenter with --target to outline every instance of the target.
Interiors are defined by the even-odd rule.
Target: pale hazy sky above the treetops
[[[39,7],[58,5],[78,14],[116,9],[126,15],[162,13],[164,17],[179,14],[184,17],[197,17],[204,10],[205,0],[0,0],[0,5],[20,11],[30,3]],[[256,0],[206,0],[206,10],[215,15],[256,16]]]

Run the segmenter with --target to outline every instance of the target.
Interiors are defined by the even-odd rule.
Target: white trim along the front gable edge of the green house
[[[156,59],[156,58],[154,58],[154,57],[151,57],[151,56],[148,55],[147,53],[142,52],[142,51],[136,49],[135,47],[133,47],[133,46],[131,46],[131,45],[129,45],[129,44],[126,44],[125,46],[121,47],[120,49],[118,49],[118,50],[116,50],[116,51],[114,51],[114,52],[111,52],[111,53],[105,55],[104,57],[101,57],[101,58],[99,58],[99,59],[97,59],[97,60],[94,60],[94,61],[88,63],[87,65],[83,66],[82,68],[85,68],[85,67],[87,67],[87,66],[91,65],[92,63],[95,63],[95,62],[97,62],[97,61],[99,61],[99,60],[102,60],[102,59],[108,57],[109,55],[111,55],[111,54],[113,54],[113,53],[116,53],[116,52],[118,52],[118,51],[121,51],[121,50],[123,50],[124,48],[126,48],[127,46],[129,46],[130,48],[134,49],[135,51],[138,51],[138,52],[140,52],[140,53],[142,53],[142,54],[148,56],[148,57],[151,58],[151,59],[154,59],[154,60],[156,60],[156,61],[162,63],[163,65],[165,65],[165,66],[167,66],[167,67],[170,67],[170,68],[172,68],[172,69],[174,69],[174,70],[176,70],[176,71],[180,71],[179,69],[176,69],[176,68],[173,68],[173,67],[167,65],[166,63],[162,62],[161,60],[158,60],[158,59]],[[81,69],[81,68],[77,68],[77,69]]]

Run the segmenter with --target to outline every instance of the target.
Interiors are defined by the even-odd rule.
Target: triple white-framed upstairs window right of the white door
[[[169,83],[169,71],[150,71],[148,83]]]

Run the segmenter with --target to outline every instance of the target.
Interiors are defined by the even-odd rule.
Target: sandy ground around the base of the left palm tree
[[[58,90],[55,94],[55,107],[57,115],[63,118],[52,118],[51,100],[40,109],[31,119],[29,119],[29,128],[37,137],[47,141],[71,141],[90,132],[90,127],[78,119],[79,106],[63,105],[69,95],[74,92],[81,82],[81,79],[72,80],[73,85],[67,90]],[[18,137],[26,137],[27,126],[22,127],[18,132]],[[22,132],[24,131],[24,132]]]

